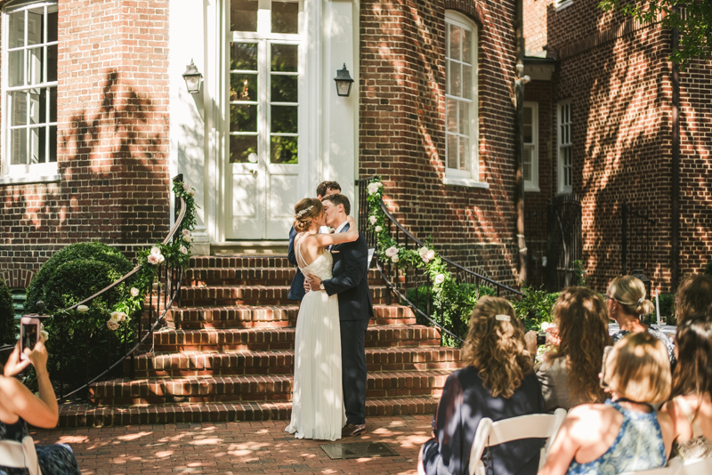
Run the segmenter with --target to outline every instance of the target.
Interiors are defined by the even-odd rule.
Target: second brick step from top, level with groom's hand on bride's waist
[[[184,286],[291,286],[295,267],[190,268],[183,278]],[[368,284],[383,286],[381,273],[368,270]]]

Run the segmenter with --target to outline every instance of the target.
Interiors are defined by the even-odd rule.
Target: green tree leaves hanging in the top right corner
[[[663,28],[677,28],[680,44],[670,59],[683,70],[695,58],[705,60],[712,55],[712,3],[708,0],[601,0],[599,8],[623,12],[649,25],[660,22]]]

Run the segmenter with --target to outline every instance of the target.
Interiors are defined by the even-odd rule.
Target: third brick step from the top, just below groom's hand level
[[[183,287],[183,307],[232,306],[232,305],[290,305],[287,299],[289,286],[209,286]],[[385,303],[386,287],[371,287],[373,302]]]

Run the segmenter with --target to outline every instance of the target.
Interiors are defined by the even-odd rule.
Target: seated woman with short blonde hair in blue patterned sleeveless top
[[[617,475],[667,463],[673,424],[653,408],[670,394],[665,345],[648,332],[629,334],[603,358],[611,399],[570,410],[539,475]]]

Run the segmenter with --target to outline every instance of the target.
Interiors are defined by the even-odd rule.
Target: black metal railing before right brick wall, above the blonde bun
[[[655,227],[655,220],[647,214],[635,210],[623,200],[621,206],[621,247],[620,266],[621,273],[625,276],[628,270],[640,269],[649,272],[651,254],[651,229]]]

